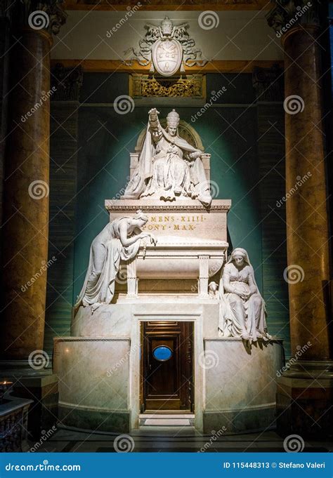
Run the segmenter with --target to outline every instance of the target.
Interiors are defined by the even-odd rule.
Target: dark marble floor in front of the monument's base
[[[152,420],[152,418],[148,418]],[[214,432],[214,430],[212,430]],[[48,452],[101,452],[115,453],[117,440],[124,439],[125,445],[133,452],[170,452],[170,451],[202,451],[206,453],[218,452],[259,452],[259,451],[285,451],[283,439],[274,431],[223,435],[202,435],[190,425],[185,426],[159,426],[143,425],[139,430],[130,434],[109,434],[103,432],[89,432],[74,430],[58,426],[57,430],[42,444],[29,442],[35,451]],[[315,442],[310,440],[304,444],[303,451],[332,452],[333,442]]]

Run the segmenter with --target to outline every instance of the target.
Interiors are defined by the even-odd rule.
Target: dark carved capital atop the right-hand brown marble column
[[[320,25],[319,0],[271,0],[275,6],[266,15],[268,25],[281,38],[300,25]]]

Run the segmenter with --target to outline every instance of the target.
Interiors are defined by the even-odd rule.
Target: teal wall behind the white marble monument
[[[104,201],[117,197],[126,185],[129,153],[134,151],[138,134],[148,120],[150,106],[139,102],[133,112],[123,115],[115,112],[112,102],[118,95],[128,94],[128,81],[128,74],[84,74],[78,120],[73,303],[84,281],[91,241],[108,221]],[[263,276],[263,271],[267,272],[266,256],[269,255],[265,251],[263,257],[263,239],[266,237],[263,237],[263,224],[264,235],[267,235],[262,216],[263,201],[266,206],[267,201],[271,201],[272,208],[275,207],[275,202],[281,197],[280,191],[285,187],[284,179],[276,175],[276,197],[274,186],[273,190],[270,187],[270,198],[265,196],[265,192],[262,197],[261,180],[264,178],[261,174],[265,154],[259,157],[259,118],[252,75],[208,74],[207,100],[212,91],[218,91],[223,86],[226,87],[226,93],[194,122],[191,117],[195,116],[198,107],[191,105],[190,101],[188,105],[179,107],[176,98],[169,98],[166,106],[161,105],[157,98],[155,106],[159,109],[161,118],[175,108],[181,119],[199,133],[205,151],[211,153],[211,180],[216,182],[218,189],[216,199],[233,201],[228,214],[231,246],[241,246],[249,252],[257,283],[266,300],[268,328],[285,339],[288,356],[287,284],[281,274],[282,266],[287,265],[285,253],[280,250],[279,255],[273,253],[269,258],[269,275],[276,273],[274,290],[265,286],[266,278]],[[282,105],[280,110],[277,114],[281,115]],[[262,127],[262,118],[260,124]],[[276,142],[276,138],[273,140]],[[276,144],[271,147],[276,149]],[[282,222],[283,218],[281,224]],[[274,234],[273,231],[271,233]],[[285,241],[283,227],[277,231],[276,241],[279,244]],[[277,293],[280,305],[274,299]],[[274,307],[270,313],[272,300]],[[70,317],[67,320],[70,322]],[[53,323],[52,328],[61,335],[57,324]]]

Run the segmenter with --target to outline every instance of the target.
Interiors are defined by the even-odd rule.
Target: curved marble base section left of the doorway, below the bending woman
[[[60,423],[129,432],[130,339],[65,337],[54,344]]]

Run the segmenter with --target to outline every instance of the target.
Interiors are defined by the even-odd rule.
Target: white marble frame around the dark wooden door
[[[171,307],[170,307],[171,308]],[[201,308],[201,307],[200,307]],[[159,307],[160,310],[160,307]],[[141,322],[143,321],[187,321],[193,322],[193,387],[195,406],[195,428],[203,430],[204,406],[204,369],[200,366],[200,357],[204,354],[202,313],[185,312],[182,314],[165,310],[161,313],[133,313],[131,323],[131,352],[129,357],[129,404],[131,427],[138,428],[141,404]]]

